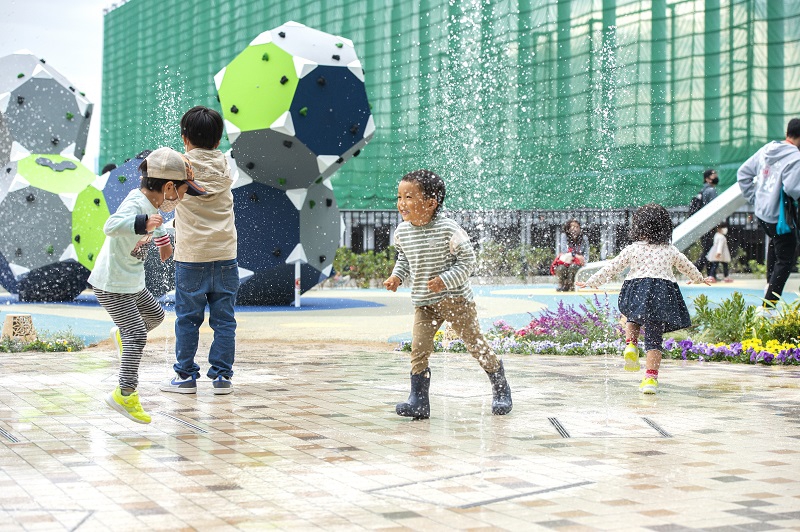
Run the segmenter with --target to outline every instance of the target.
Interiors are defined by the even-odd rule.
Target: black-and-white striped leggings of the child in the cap
[[[94,289],[97,302],[119,327],[122,337],[122,361],[119,387],[135,390],[139,384],[139,362],[147,344],[147,333],[164,321],[164,309],[147,288],[138,294],[118,294]]]

